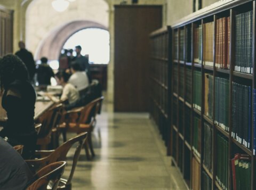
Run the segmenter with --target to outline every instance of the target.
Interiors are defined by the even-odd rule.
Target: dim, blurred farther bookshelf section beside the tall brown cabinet
[[[171,28],[164,27],[150,34],[150,116],[170,145],[170,60]],[[168,148],[170,154],[170,147]]]

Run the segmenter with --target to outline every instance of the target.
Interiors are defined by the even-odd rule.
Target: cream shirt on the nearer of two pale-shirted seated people
[[[72,104],[75,103],[77,100],[79,100],[79,93],[78,90],[71,84],[67,83],[63,87],[62,95],[61,95],[61,100],[68,99],[68,103]]]

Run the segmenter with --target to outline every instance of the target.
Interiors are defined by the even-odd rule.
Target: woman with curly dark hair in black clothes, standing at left
[[[34,127],[36,93],[29,82],[26,65],[15,55],[0,60],[0,87],[2,106],[7,121],[0,136],[12,146],[24,145],[22,156],[34,154],[37,135]]]

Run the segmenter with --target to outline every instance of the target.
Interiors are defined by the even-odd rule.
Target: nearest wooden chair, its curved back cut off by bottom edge
[[[65,161],[54,162],[45,166],[36,173],[34,183],[29,185],[27,190],[49,189],[47,188],[47,186],[49,187],[49,183],[51,184],[51,189],[57,189],[65,166]]]

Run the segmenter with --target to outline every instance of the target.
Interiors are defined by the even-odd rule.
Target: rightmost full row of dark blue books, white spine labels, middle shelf
[[[232,131],[237,142],[250,148],[251,142],[251,87],[233,82]]]

